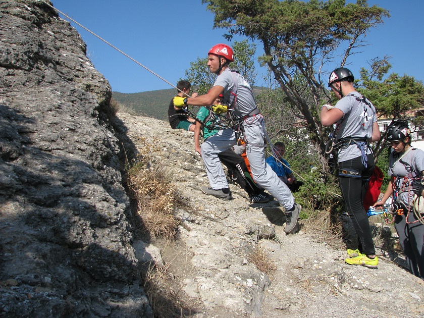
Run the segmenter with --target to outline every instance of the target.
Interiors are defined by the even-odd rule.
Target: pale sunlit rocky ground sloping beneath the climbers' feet
[[[186,199],[177,211],[178,241],[154,244],[192,317],[424,315],[423,282],[390,261],[387,251],[378,250],[377,270],[352,267],[344,262],[345,250],[317,242],[304,229],[286,235],[276,201],[249,205],[237,185],[231,185],[232,201],[204,195],[199,186],[207,185],[207,177],[192,133],[154,119],[118,116],[138,148],[157,144],[156,162],[172,172]],[[248,261],[248,250],[256,246],[269,252],[274,275]]]

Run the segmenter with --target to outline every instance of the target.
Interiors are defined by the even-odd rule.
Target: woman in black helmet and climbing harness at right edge
[[[383,205],[393,194],[395,228],[406,262],[413,275],[424,279],[424,225],[412,211],[414,193],[422,195],[424,190],[418,182],[424,172],[424,151],[411,146],[410,133],[408,125],[401,121],[387,128],[387,140],[393,148],[389,156],[390,182],[383,198],[374,206]]]

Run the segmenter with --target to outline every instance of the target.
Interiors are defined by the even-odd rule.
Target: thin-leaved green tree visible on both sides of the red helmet
[[[241,42],[234,41],[232,48],[234,51],[234,62],[230,63],[230,68],[239,71],[246,81],[253,86],[257,77],[253,60],[256,44],[248,43],[248,40],[245,39]],[[210,73],[207,67],[207,58],[197,58],[195,62],[191,62],[190,68],[185,71],[185,75],[186,79],[197,87],[199,94],[207,93],[217,78],[216,74]]]

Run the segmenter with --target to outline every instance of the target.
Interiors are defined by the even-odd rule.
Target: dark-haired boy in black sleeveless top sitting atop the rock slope
[[[191,83],[185,80],[181,80],[177,83],[177,95],[180,97],[187,97],[190,95]],[[197,93],[193,93],[191,97],[198,96]],[[172,129],[184,129],[187,131],[194,131],[196,121],[193,118],[187,116],[187,107],[177,108],[174,106],[174,98],[171,100],[168,108],[168,119]]]

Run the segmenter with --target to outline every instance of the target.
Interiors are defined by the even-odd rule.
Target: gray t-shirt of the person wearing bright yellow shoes
[[[361,98],[362,95],[354,91],[340,99],[335,108],[341,110],[344,116],[336,123],[336,139],[337,141],[347,137],[368,139],[373,135],[373,124],[377,122],[376,109],[374,105],[367,105],[363,101],[359,101],[356,97]],[[366,153],[373,153],[370,147],[366,148]],[[356,144],[342,147],[339,149],[337,162],[351,160],[361,155],[361,150]]]

